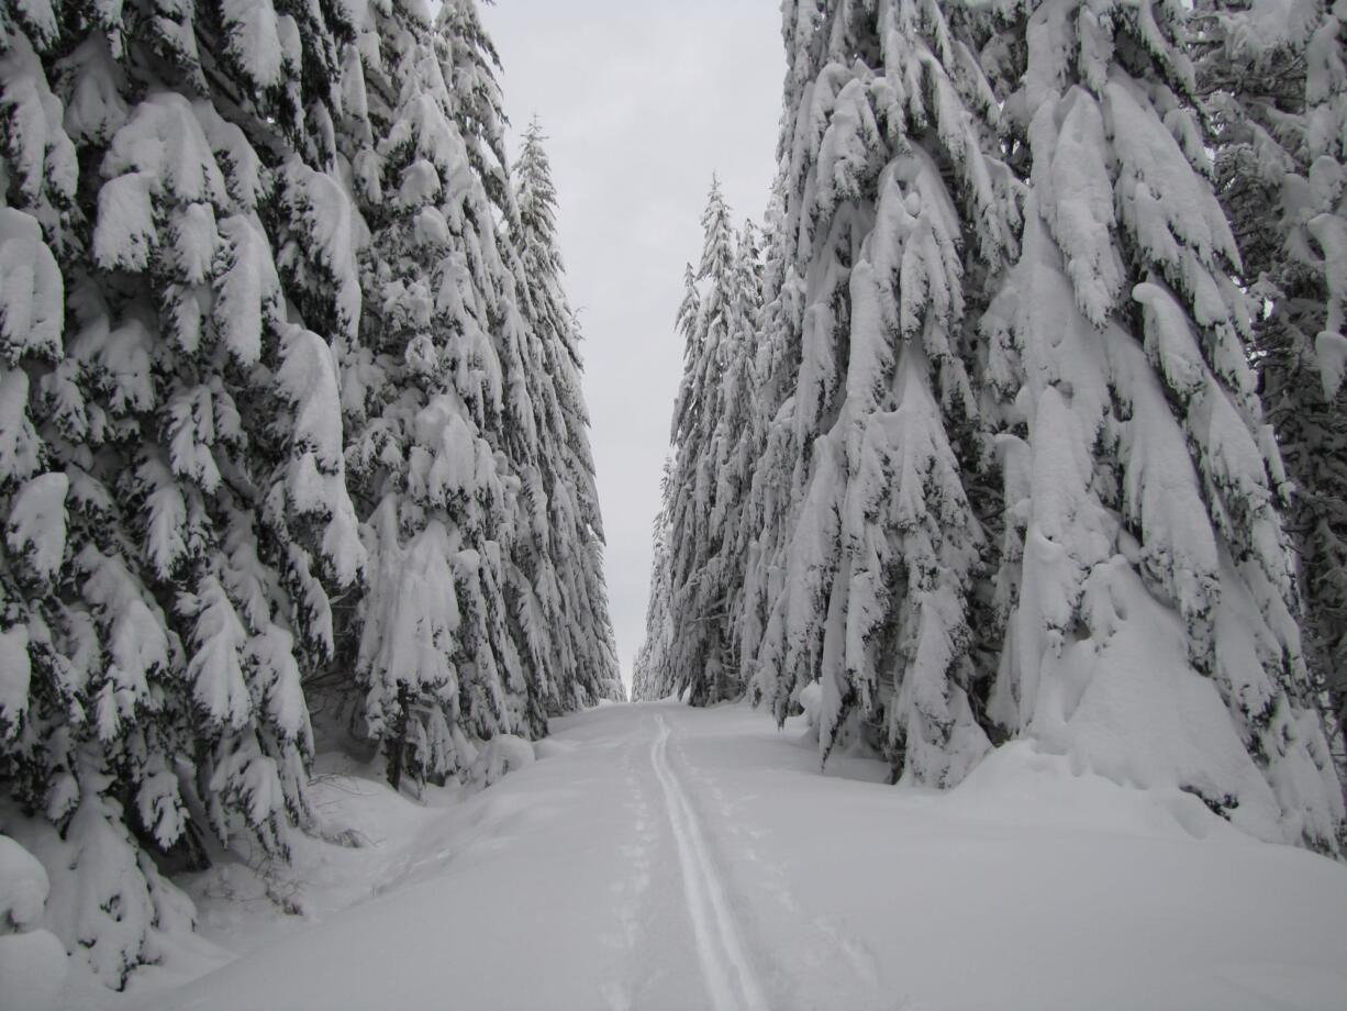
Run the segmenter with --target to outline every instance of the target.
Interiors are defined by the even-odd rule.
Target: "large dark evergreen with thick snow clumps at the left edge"
[[[268,226],[279,152],[321,164],[349,26],[26,11],[0,58],[5,256],[32,264],[5,279],[7,597],[30,613],[4,775],[70,847],[62,940],[120,985],[176,905],[139,845],[284,853],[306,817],[300,678],[362,551],[334,363],[287,318]]]

